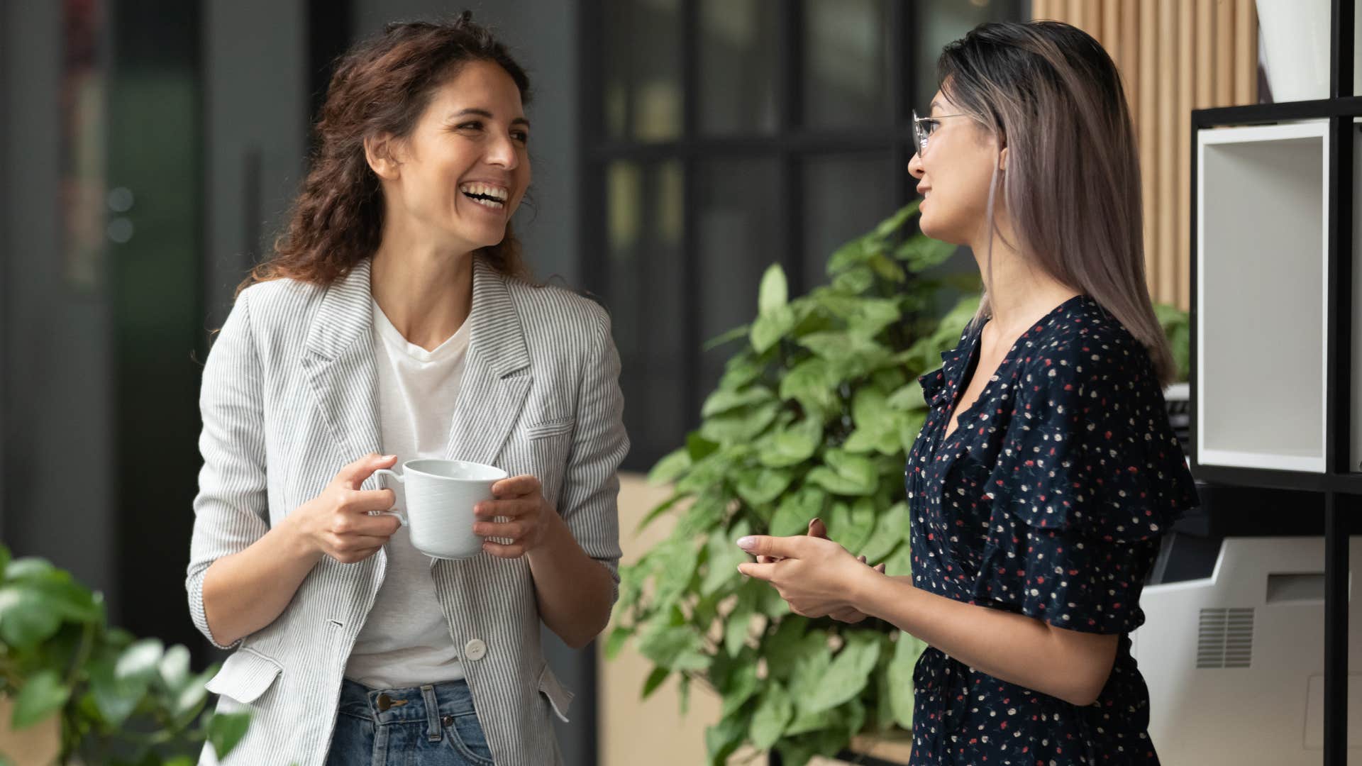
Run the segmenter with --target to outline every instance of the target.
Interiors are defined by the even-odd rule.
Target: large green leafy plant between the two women
[[[680,677],[712,687],[722,718],[706,732],[714,763],[742,743],[786,763],[832,755],[862,732],[913,724],[913,665],[923,645],[892,626],[793,615],[775,589],[744,582],[734,541],[829,536],[891,575],[908,572],[906,453],[926,416],[917,376],[940,367],[978,308],[978,277],[933,275],[953,245],[907,232],[917,203],[839,248],[831,284],[790,298],[778,266],[759,313],[712,345],[741,341],[685,447],[652,469],[671,496],[651,510],[670,536],[625,567],[614,656],[633,637],[654,665],[643,695]],[[943,289],[962,290],[944,318]]]

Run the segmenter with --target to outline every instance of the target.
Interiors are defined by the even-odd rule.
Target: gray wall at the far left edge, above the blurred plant
[[[60,3],[4,3],[0,26],[7,131],[0,164],[8,181],[0,213],[0,537],[15,553],[69,568],[116,608],[109,292],[106,284],[86,290],[64,277],[60,14]]]

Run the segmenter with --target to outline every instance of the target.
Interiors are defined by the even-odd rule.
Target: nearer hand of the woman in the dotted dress
[[[790,609],[805,617],[824,617],[857,609],[853,602],[857,578],[870,567],[846,548],[820,537],[750,536],[738,547],[753,556],[775,556],[774,563],[738,564],[738,571],[775,586]]]

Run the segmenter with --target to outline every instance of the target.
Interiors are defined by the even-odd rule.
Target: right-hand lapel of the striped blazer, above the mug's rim
[[[505,278],[474,256],[469,357],[445,457],[493,463],[520,417],[533,378],[520,315]]]

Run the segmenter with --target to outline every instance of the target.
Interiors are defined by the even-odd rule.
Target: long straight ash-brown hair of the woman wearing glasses
[[[1009,147],[989,185],[1012,218],[1009,243],[1083,290],[1148,350],[1159,380],[1175,375],[1144,277],[1140,158],[1121,75],[1096,40],[1061,22],[986,23],[945,46],[941,90]],[[989,252],[987,281],[992,282]],[[979,305],[989,312],[987,293]]]

